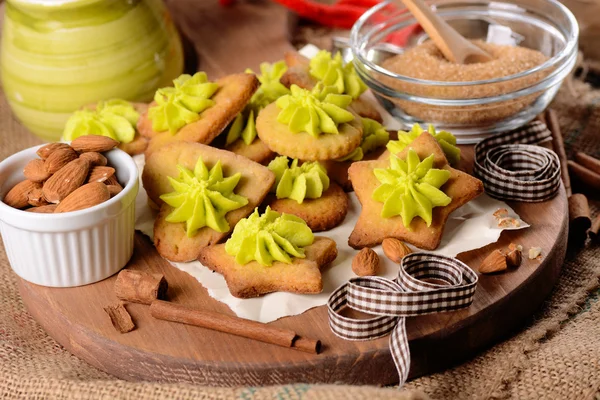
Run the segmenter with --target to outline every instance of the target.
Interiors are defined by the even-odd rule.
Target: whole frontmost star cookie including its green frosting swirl
[[[320,293],[321,268],[337,257],[335,241],[312,234],[293,215],[267,207],[236,225],[225,244],[204,248],[200,262],[222,274],[235,297],[271,292]]]

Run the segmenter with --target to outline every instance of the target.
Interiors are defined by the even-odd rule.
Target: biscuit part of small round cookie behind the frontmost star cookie
[[[318,199],[306,199],[298,203],[293,199],[278,199],[275,195],[269,195],[267,203],[274,211],[302,218],[313,232],[335,228],[344,221],[348,213],[348,196],[334,182],[329,184],[329,189]]]

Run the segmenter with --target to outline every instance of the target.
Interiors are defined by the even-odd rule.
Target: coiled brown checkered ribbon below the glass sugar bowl
[[[560,161],[552,150],[535,145],[550,140],[552,133],[539,121],[484,139],[475,145],[473,173],[497,199],[549,200],[560,187]]]

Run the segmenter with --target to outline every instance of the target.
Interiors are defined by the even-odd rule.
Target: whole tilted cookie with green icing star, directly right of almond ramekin
[[[178,142],[152,153],[142,180],[150,202],[160,208],[154,223],[158,252],[171,261],[191,261],[263,201],[275,176],[232,152]]]

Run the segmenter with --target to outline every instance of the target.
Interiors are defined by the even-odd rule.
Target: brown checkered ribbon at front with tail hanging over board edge
[[[477,274],[456,258],[412,253],[402,259],[395,280],[359,277],[337,288],[327,302],[329,326],[346,340],[371,340],[391,332],[390,352],[402,385],[410,369],[405,318],[468,307],[476,287]],[[376,316],[346,317],[340,313],[345,307]]]

